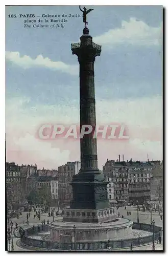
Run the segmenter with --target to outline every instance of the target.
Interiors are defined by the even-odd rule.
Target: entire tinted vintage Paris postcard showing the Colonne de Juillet
[[[163,251],[162,6],[6,6],[6,250]]]

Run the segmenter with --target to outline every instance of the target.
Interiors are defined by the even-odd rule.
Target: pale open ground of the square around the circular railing
[[[131,216],[127,216],[127,210],[131,211]],[[119,209],[117,210],[117,213],[119,211],[120,216],[124,216],[124,218],[127,218],[133,222],[137,222],[137,207],[135,206],[126,206],[126,210],[124,209],[124,207],[119,207]],[[27,222],[27,212],[22,212],[22,216],[19,217],[19,219],[10,219],[10,222],[12,220],[14,226],[15,226],[15,222],[18,224],[18,226],[25,228],[30,228],[33,225],[41,225],[41,220],[45,219],[45,222],[47,222],[47,220],[49,219],[50,222],[53,221],[53,217],[48,217],[48,214],[41,214],[41,220],[39,221],[39,219],[36,217],[34,219],[34,211],[31,212],[30,218],[29,218],[29,226],[26,224]],[[54,217],[54,220],[61,220],[61,217]],[[158,212],[152,212],[152,220],[155,221],[155,225],[156,226],[160,226],[163,227],[163,222],[160,220],[160,215],[158,214]],[[147,223],[150,224],[151,221],[151,217],[150,217],[150,212],[149,211],[145,211],[143,212],[142,210],[139,211],[139,222],[141,223]],[[18,238],[13,238],[13,243],[14,243],[14,250],[16,251],[28,251],[28,249],[25,248],[21,248],[18,246]],[[17,242],[17,243],[16,243]],[[161,244],[157,244],[157,242],[155,243],[155,250],[162,250],[163,249],[163,245],[162,242]],[[11,250],[11,244],[10,244],[10,250]],[[126,251],[126,250],[130,250],[130,248],[128,249],[121,249],[121,251]],[[145,245],[145,246],[140,246],[140,247],[133,247],[133,250],[152,250],[152,244],[150,245]],[[120,250],[119,250],[120,251]]]

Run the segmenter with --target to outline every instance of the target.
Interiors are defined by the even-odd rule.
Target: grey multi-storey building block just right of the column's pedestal
[[[149,161],[120,161],[120,155],[117,161],[107,159],[103,173],[114,183],[114,199],[118,205],[136,204],[137,201],[139,204],[148,204],[153,165]]]

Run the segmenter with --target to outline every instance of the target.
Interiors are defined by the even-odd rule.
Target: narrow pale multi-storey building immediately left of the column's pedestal
[[[58,167],[59,176],[59,205],[68,206],[73,197],[73,190],[70,185],[72,177],[79,173],[81,163],[67,162],[66,164]]]

